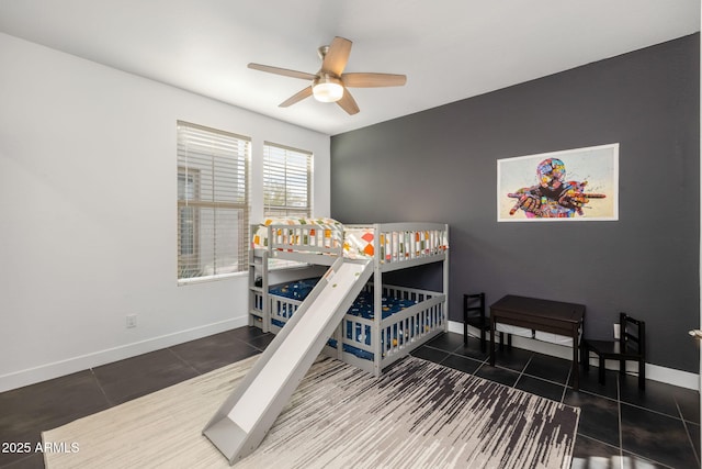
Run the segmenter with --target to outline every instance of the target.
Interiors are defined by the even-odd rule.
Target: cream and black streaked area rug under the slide
[[[49,469],[226,468],[202,428],[257,357],[44,432]],[[579,410],[407,357],[320,358],[236,468],[569,468]]]

